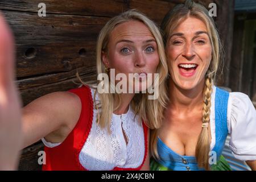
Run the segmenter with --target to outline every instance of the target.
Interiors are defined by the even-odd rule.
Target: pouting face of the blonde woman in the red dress
[[[119,24],[111,32],[108,53],[102,53],[102,61],[106,67],[115,69],[115,75],[124,73],[127,80],[129,73],[138,73],[139,85],[134,82],[127,86],[143,91],[150,86],[146,75],[156,73],[159,64],[158,45],[144,23],[131,20]]]

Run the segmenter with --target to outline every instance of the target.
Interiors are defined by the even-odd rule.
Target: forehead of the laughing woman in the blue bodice
[[[182,32],[183,34],[194,34],[198,31],[207,32],[207,26],[202,20],[194,17],[188,17],[174,30],[174,32]]]

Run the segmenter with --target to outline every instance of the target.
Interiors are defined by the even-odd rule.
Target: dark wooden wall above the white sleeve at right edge
[[[246,93],[256,107],[256,13],[236,13],[229,87]]]

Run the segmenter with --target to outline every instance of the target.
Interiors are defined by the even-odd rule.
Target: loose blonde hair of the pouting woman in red
[[[128,10],[124,13],[114,16],[109,20],[108,23],[102,28],[100,34],[98,35],[97,48],[96,48],[96,61],[97,61],[97,74],[105,73],[105,65],[102,61],[101,53],[105,51],[108,53],[108,43],[109,36],[118,24],[129,22],[132,20],[137,20],[144,23],[148,29],[151,31],[152,35],[156,40],[159,53],[159,65],[156,68],[156,73],[159,73],[159,97],[158,100],[148,100],[148,93],[138,93],[135,94],[133,100],[131,101],[131,107],[138,114],[145,124],[150,129],[159,128],[163,119],[163,110],[166,107],[168,101],[167,89],[165,82],[168,76],[168,67],[166,56],[164,53],[164,44],[162,40],[162,35],[159,28],[156,26],[152,20],[147,18],[142,13],[137,10]],[[81,81],[81,79],[80,79]],[[100,81],[97,81],[100,84]],[[110,82],[110,89],[113,89],[114,85]],[[97,89],[96,89],[96,93]],[[96,94],[94,94],[95,96]],[[110,119],[112,118],[112,113],[114,110],[118,109],[121,104],[120,95],[117,93],[98,93],[100,102],[96,102],[94,97],[94,103],[96,103],[96,108],[98,109],[97,123],[101,127],[109,127]]]

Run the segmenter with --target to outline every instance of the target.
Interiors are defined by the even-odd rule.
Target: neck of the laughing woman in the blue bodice
[[[170,106],[177,111],[201,109],[203,104],[204,81],[195,88],[185,90],[177,86],[172,79],[169,81]]]

